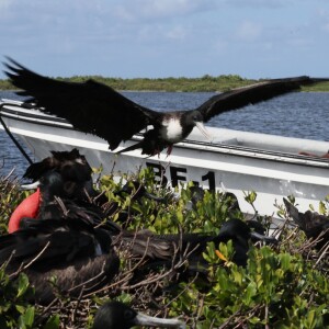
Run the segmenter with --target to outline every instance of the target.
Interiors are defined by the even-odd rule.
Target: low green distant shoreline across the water
[[[87,76],[87,77],[71,77],[71,78],[56,78],[60,81],[68,82],[83,82],[89,79],[93,79],[98,82],[112,87],[117,91],[129,92],[224,92],[234,88],[248,86],[266,79],[245,79],[240,76],[228,75],[212,77],[205,75],[201,78],[104,78],[100,76]],[[16,91],[18,89],[11,84],[10,80],[0,80],[1,91]],[[329,92],[329,82],[321,82],[311,87],[303,87],[302,91],[318,91]]]

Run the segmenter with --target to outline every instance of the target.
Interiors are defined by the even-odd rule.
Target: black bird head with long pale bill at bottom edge
[[[133,308],[120,302],[109,302],[102,305],[93,321],[93,329],[129,329],[135,326],[186,328],[185,324],[178,319],[161,319],[137,313]]]

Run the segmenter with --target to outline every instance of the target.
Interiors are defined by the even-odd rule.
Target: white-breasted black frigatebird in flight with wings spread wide
[[[295,77],[264,80],[212,97],[194,110],[157,112],[141,106],[111,87],[88,80],[82,83],[58,81],[35,73],[13,59],[5,64],[5,75],[22,89],[20,95],[30,95],[42,111],[66,118],[75,128],[107,140],[110,149],[152,126],[137,144],[120,150],[141,148],[141,154],[156,155],[186,138],[196,126],[209,137],[203,123],[220,113],[270,100],[298,90],[300,86],[328,81],[326,78]]]

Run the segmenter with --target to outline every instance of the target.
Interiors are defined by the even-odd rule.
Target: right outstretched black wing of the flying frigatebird
[[[300,86],[324,81],[329,81],[329,79],[303,76],[296,78],[266,80],[214,95],[196,110],[203,114],[204,122],[207,122],[213,116],[223,112],[237,110],[249,104],[256,104],[273,99],[284,93],[298,90]]]

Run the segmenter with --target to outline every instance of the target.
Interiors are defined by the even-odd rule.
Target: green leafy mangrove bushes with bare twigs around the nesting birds
[[[218,232],[227,219],[243,219],[243,214],[234,206],[235,201],[223,193],[206,192],[202,201],[191,206],[189,189],[183,188],[179,198],[172,197],[171,191],[155,184],[149,170],[123,179],[138,180],[148,192],[167,200],[135,202],[136,191],[118,196],[114,192],[123,181],[100,175],[103,193],[120,205],[111,219],[120,223],[120,213],[124,211],[134,214],[120,223],[127,229],[150,229],[157,234]],[[1,227],[24,196],[14,186],[8,178],[0,180],[1,197],[5,197],[0,204]],[[246,192],[250,209],[256,198],[254,192]],[[320,206],[328,214],[327,205],[325,201]],[[287,219],[284,207],[277,207],[280,216]],[[265,226],[271,223],[271,218],[256,216],[256,219],[265,222]],[[121,272],[106,288],[79,300],[58,295],[56,303],[47,307],[30,304],[33,288],[27,277],[18,273],[18,280],[12,281],[3,272],[4,264],[0,270],[0,327],[90,328],[98,305],[120,299],[150,315],[180,316],[189,328],[329,328],[328,253],[313,249],[304,232],[296,228],[284,225],[275,236],[277,246],[250,246],[246,268],[231,262],[230,241],[219,246],[208,243],[203,254],[208,266],[178,283],[174,281],[178,268],[148,273],[139,281],[134,276],[132,281],[138,260],[127,259],[125,250],[117,250]],[[182,261],[180,266],[188,263]]]

